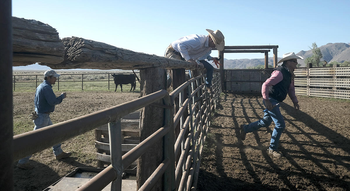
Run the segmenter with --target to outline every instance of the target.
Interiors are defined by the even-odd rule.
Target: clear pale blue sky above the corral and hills
[[[59,37],[77,36],[163,56],[182,36],[219,29],[226,46],[278,45],[283,53],[348,43],[350,1],[13,0],[12,15],[47,23]],[[217,56],[213,51],[212,56]],[[269,53],[272,57],[273,53]],[[226,59],[263,58],[228,53]]]

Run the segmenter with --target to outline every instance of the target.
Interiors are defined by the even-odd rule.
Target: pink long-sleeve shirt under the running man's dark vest
[[[261,94],[262,98],[264,100],[268,100],[268,89],[270,86],[274,86],[278,84],[280,81],[283,80],[283,75],[280,71],[275,70],[272,72],[271,77],[267,79],[261,87]],[[290,83],[289,89],[288,89],[288,96],[292,100],[293,103],[297,103],[298,99],[295,96],[295,87],[294,87],[294,80]]]

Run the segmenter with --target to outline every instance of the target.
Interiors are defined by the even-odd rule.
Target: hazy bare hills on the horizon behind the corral
[[[327,62],[344,62],[350,61],[350,43],[328,43],[323,45],[320,48],[322,53],[322,60]],[[312,55],[312,50],[301,50],[296,53],[296,55],[303,57],[304,59]],[[281,55],[278,55],[281,56]],[[278,57],[277,60],[280,60],[282,57]],[[298,60],[298,63],[301,64],[301,67],[305,66],[303,60]],[[227,60],[224,59],[224,68],[225,69],[244,69],[247,67],[254,67],[259,64],[265,64],[265,58],[262,59],[236,59],[236,60]],[[268,64],[273,65],[273,57],[268,58]]]

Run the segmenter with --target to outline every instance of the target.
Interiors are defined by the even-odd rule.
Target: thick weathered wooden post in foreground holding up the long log
[[[140,70],[140,96],[146,96],[161,89],[166,89],[166,70],[162,68],[146,68]],[[162,100],[156,103],[163,104]],[[140,142],[164,125],[164,109],[148,105],[142,108],[140,115]],[[137,164],[137,190],[144,184],[153,171],[163,161],[162,139],[143,154]],[[163,180],[155,185],[154,190],[162,190]]]

